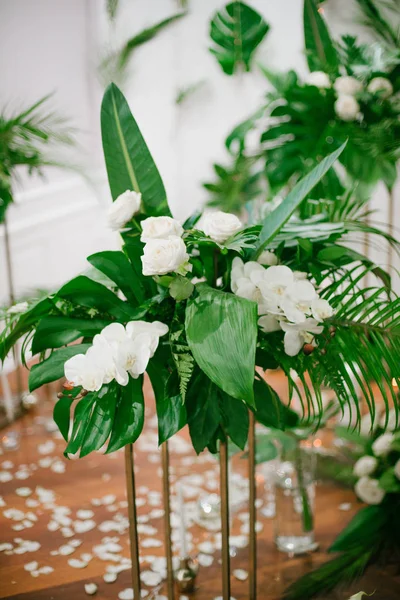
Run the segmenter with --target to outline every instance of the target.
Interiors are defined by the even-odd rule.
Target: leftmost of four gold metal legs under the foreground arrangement
[[[135,598],[140,598],[139,536],[137,531],[135,470],[133,444],[125,446],[125,475],[128,496],[129,542],[132,559],[132,587]]]

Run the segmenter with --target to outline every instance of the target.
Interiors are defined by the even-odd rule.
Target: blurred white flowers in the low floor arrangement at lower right
[[[393,441],[393,433],[383,433],[372,444],[374,456],[362,456],[354,465],[354,475],[359,477],[354,489],[360,500],[366,504],[380,504],[386,495],[379,485],[379,480],[372,475],[379,467],[379,459],[385,459],[392,451]],[[394,466],[394,474],[400,480],[400,459]]]

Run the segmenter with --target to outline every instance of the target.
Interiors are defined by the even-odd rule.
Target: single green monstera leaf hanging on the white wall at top
[[[211,21],[210,36],[215,47],[210,52],[227,75],[233,75],[239,66],[250,71],[253,53],[268,30],[268,23],[258,12],[244,2],[231,2]]]

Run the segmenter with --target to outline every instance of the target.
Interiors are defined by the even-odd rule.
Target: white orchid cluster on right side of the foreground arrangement
[[[258,262],[243,263],[236,257],[232,262],[231,288],[237,296],[257,302],[258,324],[265,333],[285,332],[284,346],[289,356],[296,356],[305,343],[314,343],[314,335],[323,331],[319,323],[333,314],[330,304],[318,296],[306,274],[284,265],[266,269]]]

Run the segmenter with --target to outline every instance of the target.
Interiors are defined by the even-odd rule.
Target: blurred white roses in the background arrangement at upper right
[[[331,87],[329,76],[323,71],[313,71],[310,73],[306,83],[314,85],[319,89],[328,89]],[[362,117],[360,105],[356,99],[357,94],[360,94],[364,89],[362,81],[350,75],[344,75],[335,79],[333,88],[337,93],[335,112],[339,119],[342,119],[342,121],[354,121]],[[383,100],[393,94],[393,86],[386,77],[374,77],[366,89],[370,94],[379,96]]]

